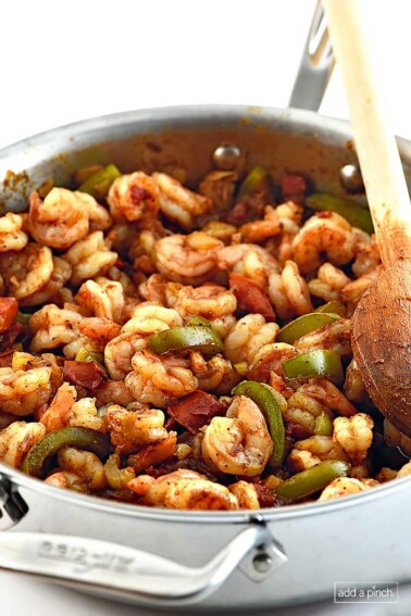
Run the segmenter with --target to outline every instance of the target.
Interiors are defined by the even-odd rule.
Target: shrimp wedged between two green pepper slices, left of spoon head
[[[299,340],[296,340],[295,347],[300,353],[313,349],[328,349],[341,356],[350,356],[352,355],[351,330],[351,319],[339,318],[321,329],[316,329],[316,331],[301,336]]]

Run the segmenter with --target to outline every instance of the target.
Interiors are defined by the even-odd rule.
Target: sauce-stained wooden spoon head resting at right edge
[[[374,404],[411,437],[411,261],[383,269],[352,317],[352,351]]]

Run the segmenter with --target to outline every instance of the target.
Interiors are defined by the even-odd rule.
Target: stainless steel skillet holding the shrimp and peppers
[[[356,163],[344,122],[297,110],[228,106],[132,112],[48,131],[3,150],[0,202],[67,184],[88,163],[123,172],[184,167],[204,175],[222,143],[248,164],[307,175],[341,193]],[[411,180],[411,143],[400,140]],[[8,173],[12,171],[13,173]],[[411,184],[411,181],[410,181]],[[58,490],[0,465],[0,567],[149,605],[276,606],[333,594],[334,582],[409,579],[410,480],[323,504],[238,513],[144,508]],[[155,554],[155,555],[154,555]]]

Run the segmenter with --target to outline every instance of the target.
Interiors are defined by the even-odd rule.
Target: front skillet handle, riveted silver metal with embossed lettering
[[[128,595],[144,605],[195,604],[215,592],[237,566],[253,581],[262,581],[286,561],[283,549],[259,521],[198,568],[97,539],[13,530],[0,533],[0,568],[85,591]]]

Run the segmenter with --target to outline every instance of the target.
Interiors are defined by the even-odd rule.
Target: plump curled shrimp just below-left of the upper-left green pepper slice
[[[35,190],[29,196],[28,229],[38,243],[66,250],[88,234],[88,203],[94,197],[52,188],[41,201]]]

